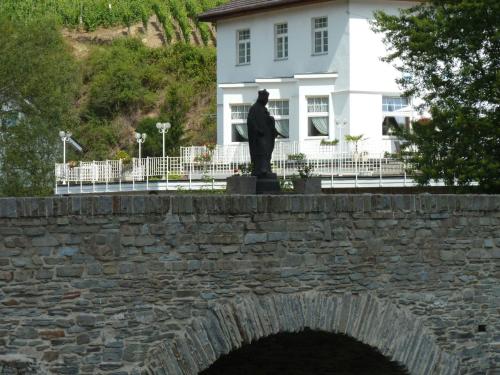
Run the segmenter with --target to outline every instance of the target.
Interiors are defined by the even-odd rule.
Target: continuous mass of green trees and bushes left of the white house
[[[60,130],[72,131],[84,148],[74,155],[68,147],[67,160],[91,161],[135,155],[136,130],[150,135],[143,155],[160,156],[156,122],[172,124],[169,156],[187,142],[193,118],[214,126],[203,112],[190,114],[215,97],[213,47],[153,49],[123,38],[90,50],[75,61],[57,21],[0,20],[0,194],[51,192],[54,163],[62,161]]]

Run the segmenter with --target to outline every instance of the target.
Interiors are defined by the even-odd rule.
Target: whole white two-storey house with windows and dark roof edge
[[[278,142],[309,154],[322,141],[363,135],[368,152],[397,151],[391,124],[415,115],[399,72],[381,61],[377,10],[396,13],[397,0],[234,0],[200,16],[217,26],[217,143],[246,141],[246,116],[257,91],[270,93]]]

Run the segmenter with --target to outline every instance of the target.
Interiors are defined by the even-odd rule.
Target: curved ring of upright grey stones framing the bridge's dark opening
[[[184,331],[151,349],[143,373],[196,375],[220,356],[280,332],[344,333],[411,374],[455,375],[458,359],[441,350],[422,318],[371,294],[322,292],[244,295],[210,306]]]

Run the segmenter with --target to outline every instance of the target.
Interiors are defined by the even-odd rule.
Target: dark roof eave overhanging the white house
[[[222,18],[242,16],[269,8],[305,5],[328,0],[232,0],[227,4],[207,10],[198,16],[200,21],[217,21]]]

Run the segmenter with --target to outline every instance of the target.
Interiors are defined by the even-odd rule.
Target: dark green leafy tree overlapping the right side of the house
[[[398,15],[378,12],[406,95],[420,97],[432,119],[398,132],[421,184],[478,182],[500,189],[500,39],[498,0],[429,0]]]

